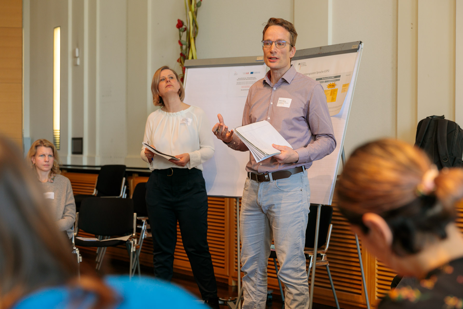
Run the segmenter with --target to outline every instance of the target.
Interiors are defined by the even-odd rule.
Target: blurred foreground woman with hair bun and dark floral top
[[[384,308],[463,308],[463,238],[455,203],[463,170],[438,171],[423,151],[394,139],[357,148],[337,183],[339,208],[362,244],[409,285]]]

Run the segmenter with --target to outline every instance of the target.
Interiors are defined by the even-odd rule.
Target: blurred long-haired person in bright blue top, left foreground
[[[68,240],[21,158],[0,138],[0,308],[204,308],[156,279],[102,280],[85,267],[78,279]]]

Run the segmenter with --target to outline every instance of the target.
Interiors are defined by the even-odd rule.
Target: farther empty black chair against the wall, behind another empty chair
[[[74,195],[75,209],[79,211],[81,202],[89,197],[125,197],[125,189],[125,165],[103,165],[93,194]]]

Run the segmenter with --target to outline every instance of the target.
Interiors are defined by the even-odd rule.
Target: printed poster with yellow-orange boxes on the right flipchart
[[[339,113],[349,89],[357,53],[294,60],[296,70],[320,82],[325,90],[330,116]]]

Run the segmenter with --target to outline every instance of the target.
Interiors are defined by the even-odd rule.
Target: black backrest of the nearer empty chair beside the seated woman
[[[132,233],[133,213],[131,199],[90,197],[82,201],[77,227],[103,236]]]

